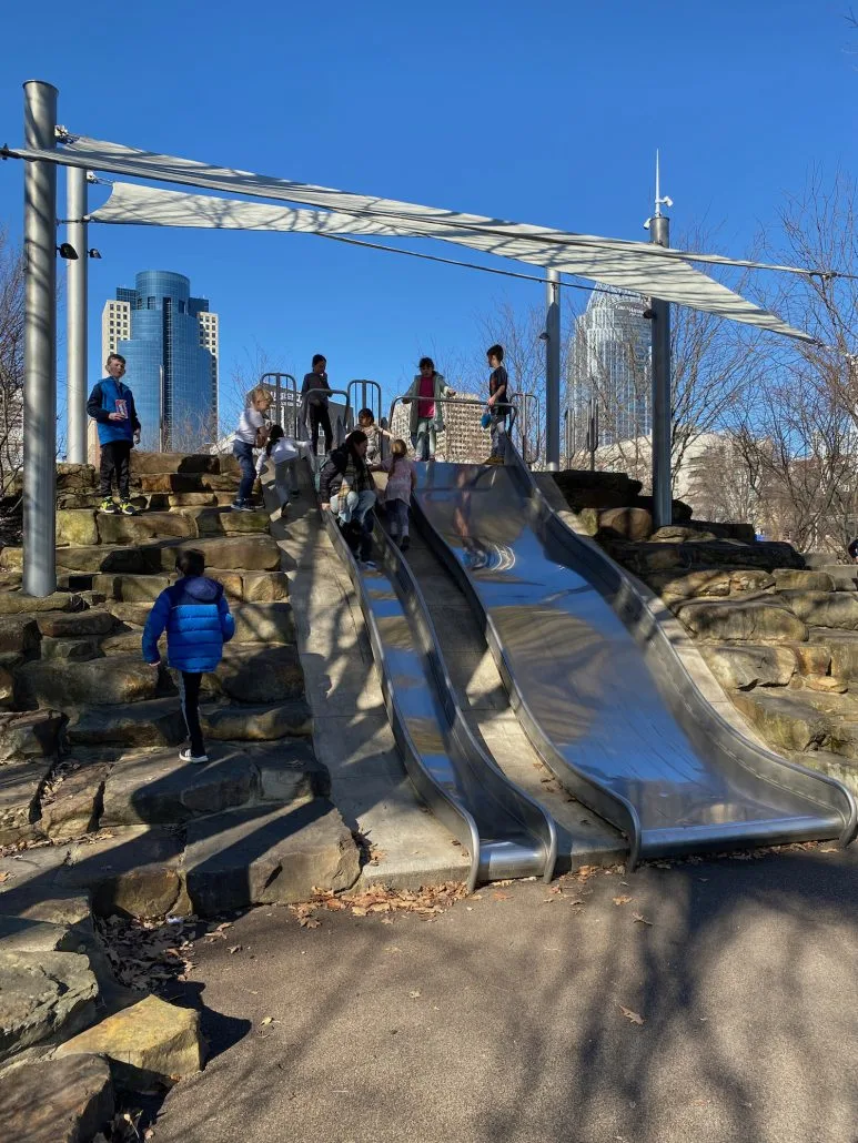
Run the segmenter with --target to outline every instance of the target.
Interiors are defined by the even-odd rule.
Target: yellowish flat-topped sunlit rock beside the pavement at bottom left
[[[67,1040],[57,1057],[79,1053],[106,1056],[117,1082],[130,1089],[182,1079],[202,1066],[199,1013],[146,997]]]

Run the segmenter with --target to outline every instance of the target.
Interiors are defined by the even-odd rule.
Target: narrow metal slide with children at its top
[[[360,568],[331,512],[324,515],[360,599],[405,768],[421,798],[470,855],[469,887],[515,877],[550,880],[557,857],[554,821],[471,734],[423,596],[399,550],[376,521],[379,567]]]

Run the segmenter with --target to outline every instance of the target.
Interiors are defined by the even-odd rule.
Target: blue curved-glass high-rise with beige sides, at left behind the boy
[[[217,431],[217,314],[184,274],[144,270],[102,311],[102,360],[126,359],[146,449],[210,445]]]

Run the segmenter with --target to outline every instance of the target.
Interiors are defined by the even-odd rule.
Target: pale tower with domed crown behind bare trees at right
[[[586,447],[590,400],[599,411],[599,443],[652,432],[650,322],[637,294],[606,289],[590,294],[575,320],[569,360],[572,449]]]

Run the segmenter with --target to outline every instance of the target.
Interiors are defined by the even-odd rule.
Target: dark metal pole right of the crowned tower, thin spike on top
[[[656,214],[649,221],[650,241],[670,245],[670,219],[661,214],[662,205],[673,202],[661,197],[659,160],[656,154]],[[653,297],[652,311],[652,507],[653,523],[664,528],[673,522],[670,473],[670,304]]]

